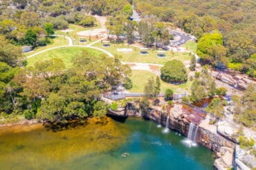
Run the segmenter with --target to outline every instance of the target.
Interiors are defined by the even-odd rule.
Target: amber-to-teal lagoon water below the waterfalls
[[[41,124],[0,128],[0,169],[212,169],[212,151],[186,147],[174,131],[128,118],[91,119],[53,131]]]

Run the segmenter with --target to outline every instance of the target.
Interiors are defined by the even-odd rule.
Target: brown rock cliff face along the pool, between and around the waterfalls
[[[191,116],[196,116],[198,113],[195,115],[190,115],[186,111],[185,113],[182,111],[179,113],[179,111],[181,111],[181,105],[174,105],[170,113],[163,113],[161,110],[151,109],[147,111],[147,113],[142,114],[140,109],[134,109],[134,107],[129,106],[116,111],[116,115],[138,117],[143,116],[149,120],[155,121],[156,123],[161,123],[163,126],[166,126],[167,118],[169,117],[169,128],[175,131],[179,131],[179,133],[183,134],[183,136],[188,136],[190,122],[191,120],[194,120],[191,119]],[[168,114],[170,116],[167,116]],[[229,130],[225,131],[225,129],[222,127],[220,127],[219,130],[230,135]],[[232,167],[232,153],[235,148],[235,142],[224,136],[221,136],[220,134],[217,134],[216,131],[212,132],[200,126],[197,131],[196,142],[217,153],[217,160],[214,161],[214,167],[216,169],[227,169]]]

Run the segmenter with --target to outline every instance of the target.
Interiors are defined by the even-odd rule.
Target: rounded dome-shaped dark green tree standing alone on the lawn
[[[184,83],[188,81],[188,74],[181,61],[172,60],[165,63],[161,68],[161,78],[167,83]]]

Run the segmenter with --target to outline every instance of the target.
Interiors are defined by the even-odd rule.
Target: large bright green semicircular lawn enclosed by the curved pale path
[[[82,54],[82,51],[84,50],[86,50],[90,54],[93,54],[93,56],[98,56],[99,54],[102,54],[102,52],[98,50],[86,47],[63,47],[55,50],[50,50],[48,52],[44,52],[42,54],[38,54],[37,56],[28,59],[28,66],[33,66],[37,61],[44,61],[57,58],[62,59],[62,61],[64,61],[64,63],[66,64],[66,67],[70,68],[72,67],[72,62],[75,56],[79,56],[80,54]]]

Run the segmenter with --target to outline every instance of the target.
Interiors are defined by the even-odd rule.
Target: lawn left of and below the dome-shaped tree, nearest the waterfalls
[[[144,86],[147,83],[147,79],[150,77],[156,78],[156,74],[147,72],[144,70],[132,70],[131,81],[133,82],[133,88],[129,92],[143,92]],[[190,92],[191,81],[182,85],[172,85],[161,81],[161,92],[165,92],[165,89],[172,89],[174,92],[183,92],[183,89]]]

